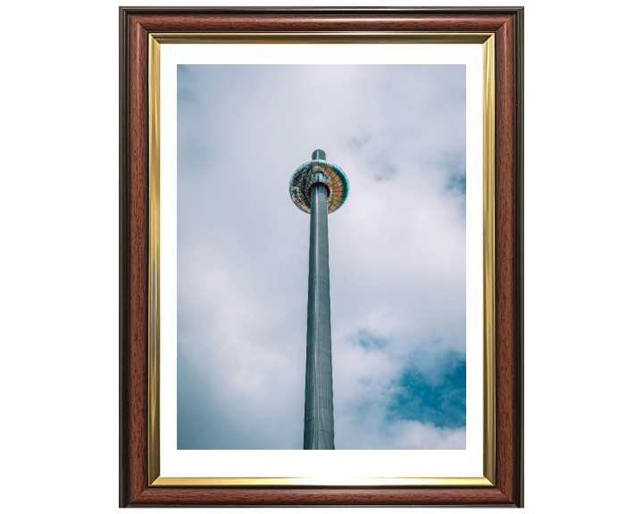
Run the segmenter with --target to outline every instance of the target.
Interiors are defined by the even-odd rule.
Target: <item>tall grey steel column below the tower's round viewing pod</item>
[[[310,196],[304,450],[335,450],[326,186],[313,184]]]

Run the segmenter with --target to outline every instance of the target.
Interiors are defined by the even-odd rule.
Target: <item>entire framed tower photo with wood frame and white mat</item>
[[[522,8],[121,8],[121,506],[522,506]]]

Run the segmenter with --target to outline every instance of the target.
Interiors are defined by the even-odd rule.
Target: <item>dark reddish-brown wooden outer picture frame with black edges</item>
[[[120,505],[523,505],[523,8],[120,8]],[[493,32],[496,483],[493,487],[150,487],[147,479],[150,32]]]

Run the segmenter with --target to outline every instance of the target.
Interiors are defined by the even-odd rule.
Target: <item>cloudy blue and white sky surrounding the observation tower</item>
[[[177,448],[304,444],[321,148],[337,450],[464,449],[465,66],[179,65]]]

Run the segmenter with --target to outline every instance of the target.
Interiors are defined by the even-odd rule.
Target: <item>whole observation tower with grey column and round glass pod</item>
[[[315,150],[290,178],[290,198],[311,215],[308,261],[308,329],[304,450],[335,450],[330,352],[330,278],[328,215],[348,196],[348,178],[337,164]]]

